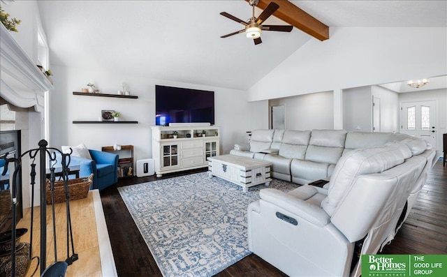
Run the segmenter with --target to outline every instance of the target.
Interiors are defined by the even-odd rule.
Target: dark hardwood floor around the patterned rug
[[[193,170],[183,174],[203,172]],[[166,174],[170,178],[182,174]],[[120,186],[154,181],[158,178],[133,177],[101,192],[101,200],[118,276],[162,276],[149,248],[142,239],[119,192]],[[383,254],[447,254],[447,167],[438,161],[427,184],[411,209],[406,222]],[[286,276],[260,257],[251,254],[221,271],[217,276]]]

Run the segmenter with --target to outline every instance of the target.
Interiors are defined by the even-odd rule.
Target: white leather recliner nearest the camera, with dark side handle
[[[344,154],[324,188],[261,190],[248,208],[249,250],[289,276],[360,276],[359,255],[394,237],[433,156],[422,140],[391,142]]]

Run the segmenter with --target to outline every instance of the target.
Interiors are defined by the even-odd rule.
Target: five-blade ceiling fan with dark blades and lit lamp
[[[247,38],[252,38],[254,40],[254,44],[257,45],[262,43],[261,40],[261,32],[262,31],[286,31],[290,32],[293,29],[293,26],[290,25],[262,25],[262,23],[270,17],[274,13],[275,10],[279,8],[279,5],[274,2],[270,2],[268,6],[263,10],[261,15],[257,18],[254,17],[254,7],[258,4],[259,0],[249,0],[249,4],[253,7],[253,16],[245,22],[244,20],[240,20],[239,18],[230,15],[229,13],[222,12],[220,13],[224,17],[229,18],[230,20],[234,20],[245,26],[245,29],[240,31],[235,31],[234,33],[228,33],[225,36],[221,36],[221,38],[228,38],[228,36],[236,35],[237,33],[244,33]]]

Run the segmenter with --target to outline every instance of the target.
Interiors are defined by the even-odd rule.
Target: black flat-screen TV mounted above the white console
[[[214,124],[214,91],[155,86],[155,123]]]

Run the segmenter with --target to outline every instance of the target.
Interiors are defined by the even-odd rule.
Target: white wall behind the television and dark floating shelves
[[[228,154],[237,141],[245,140],[251,130],[251,120],[263,117],[263,101],[247,103],[247,93],[233,89],[184,84],[149,77],[121,75],[95,71],[89,68],[53,66],[54,91],[50,93],[50,140],[54,147],[78,145],[90,149],[102,146],[131,144],[135,160],[152,157],[150,126],[155,125],[155,84],[190,89],[215,91],[215,124],[221,126],[221,153]],[[116,93],[122,82],[129,84],[132,95],[138,99],[74,96],[88,82],[94,82],[103,93]],[[98,120],[101,110],[117,110],[121,120],[138,121],[138,124],[73,124],[74,120]],[[261,115],[260,115],[261,114]],[[265,120],[267,122],[267,120]]]

